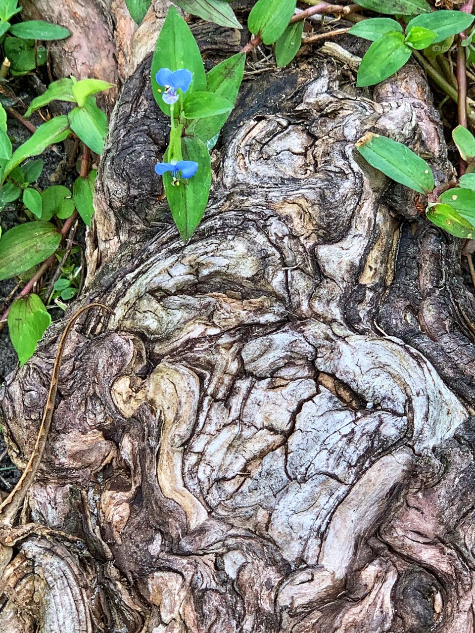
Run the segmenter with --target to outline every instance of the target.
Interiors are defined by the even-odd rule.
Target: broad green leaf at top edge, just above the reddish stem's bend
[[[264,44],[274,44],[293,16],[296,0],[257,0],[248,17],[248,29]]]

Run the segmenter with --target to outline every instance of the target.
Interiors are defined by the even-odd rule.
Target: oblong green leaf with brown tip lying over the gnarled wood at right
[[[421,194],[434,189],[434,175],[429,165],[402,143],[368,132],[356,147],[372,167],[392,180]]]

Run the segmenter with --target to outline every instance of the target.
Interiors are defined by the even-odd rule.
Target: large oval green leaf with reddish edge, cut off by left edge
[[[46,260],[61,243],[61,234],[49,222],[25,222],[0,239],[0,280],[15,277]]]

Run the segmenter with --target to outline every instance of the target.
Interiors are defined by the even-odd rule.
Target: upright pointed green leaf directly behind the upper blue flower
[[[188,92],[206,90],[206,74],[200,49],[184,19],[172,5],[168,9],[167,18],[155,45],[151,67],[152,92],[160,110],[170,116],[170,106],[163,101],[163,86],[156,82],[156,73],[160,68],[181,70],[187,68],[193,73],[193,80]],[[176,110],[175,110],[176,111]]]

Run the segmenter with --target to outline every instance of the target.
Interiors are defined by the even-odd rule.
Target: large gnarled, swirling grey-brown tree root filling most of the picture
[[[58,532],[16,547],[0,630],[473,630],[473,295],[460,242],[354,144],[452,167],[417,68],[353,86],[316,54],[249,75],[184,245],[149,59],[125,83],[84,298],[115,316],[66,350],[22,514]],[[60,328],[4,388],[20,467]]]

